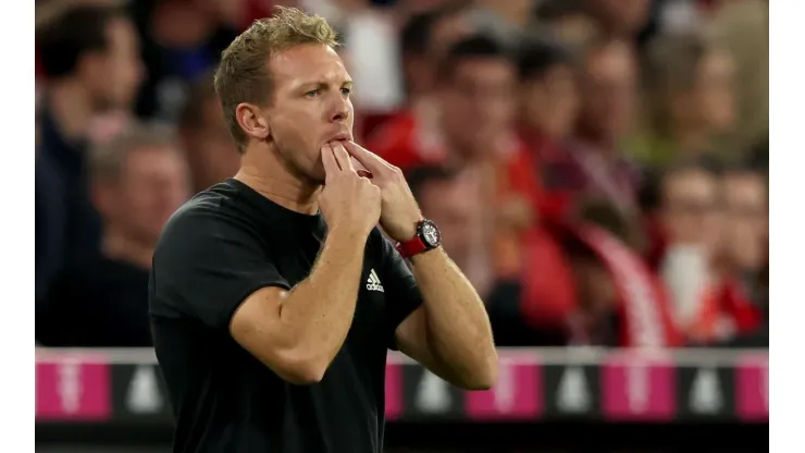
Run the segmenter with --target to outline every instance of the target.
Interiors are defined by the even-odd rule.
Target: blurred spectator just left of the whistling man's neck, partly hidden
[[[193,192],[197,193],[234,176],[240,167],[240,154],[230,135],[212,75],[196,81],[189,93],[178,128],[190,167]]]

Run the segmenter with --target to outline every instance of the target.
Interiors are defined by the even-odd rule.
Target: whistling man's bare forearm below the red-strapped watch
[[[411,260],[425,308],[434,364],[454,383],[494,382],[497,353],[481,297],[441,248]]]

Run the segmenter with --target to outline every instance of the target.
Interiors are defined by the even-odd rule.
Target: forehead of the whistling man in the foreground
[[[269,69],[276,82],[293,85],[349,79],[338,53],[325,45],[299,45],[276,52],[269,61]]]

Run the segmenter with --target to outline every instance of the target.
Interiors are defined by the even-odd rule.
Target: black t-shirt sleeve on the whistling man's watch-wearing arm
[[[408,315],[422,305],[422,293],[419,291],[413,273],[397,248],[379,230],[375,230],[375,234],[382,241],[383,285],[385,286],[388,323],[387,342],[391,350],[397,351],[395,331]]]

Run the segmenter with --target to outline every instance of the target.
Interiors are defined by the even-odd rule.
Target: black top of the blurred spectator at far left
[[[146,347],[148,269],[103,256],[74,264],[36,307],[36,339],[54,347]]]

